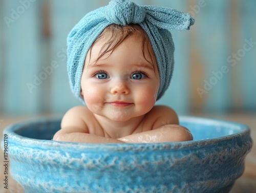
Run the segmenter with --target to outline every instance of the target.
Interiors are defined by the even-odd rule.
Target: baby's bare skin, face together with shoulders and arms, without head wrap
[[[108,40],[98,41],[86,57],[81,95],[87,106],[70,109],[56,141],[82,143],[156,143],[193,140],[175,111],[155,106],[160,85],[156,59],[142,53],[135,35],[112,53],[97,57]],[[145,49],[145,51],[152,50]],[[146,59],[145,59],[146,58]]]

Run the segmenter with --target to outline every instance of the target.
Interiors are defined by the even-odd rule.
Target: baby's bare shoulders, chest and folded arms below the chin
[[[66,117],[69,118],[65,119]],[[122,123],[114,121],[108,125],[102,123],[86,106],[76,106],[63,117],[61,130],[54,135],[53,140],[81,143],[156,143],[193,140],[189,130],[178,125],[176,113],[167,106],[154,106],[152,111],[131,122],[129,127],[120,127]]]

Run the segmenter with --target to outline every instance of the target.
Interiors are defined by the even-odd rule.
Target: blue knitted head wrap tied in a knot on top
[[[112,0],[108,6],[85,15],[68,35],[68,75],[71,90],[82,99],[81,76],[87,52],[109,25],[138,24],[146,32],[156,56],[160,74],[157,99],[168,88],[174,68],[174,43],[169,30],[188,30],[194,18],[175,9],[140,6],[129,0]]]

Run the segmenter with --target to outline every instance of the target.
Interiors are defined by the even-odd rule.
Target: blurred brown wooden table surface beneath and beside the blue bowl
[[[251,137],[254,142],[253,147],[250,153],[246,157],[245,162],[245,171],[242,177],[237,179],[236,183],[234,184],[230,193],[255,193],[256,192],[256,114],[246,114],[246,113],[238,113],[232,115],[202,115],[202,114],[195,114],[193,116],[204,116],[208,118],[217,118],[229,121],[240,122],[249,125],[251,128]],[[36,118],[36,117],[33,117]],[[10,118],[6,116],[0,116],[0,138],[3,137],[3,129],[12,123],[27,120],[31,118],[27,117],[15,117]],[[0,150],[0,176],[1,176],[1,183],[0,183],[0,193],[24,193],[23,188],[8,176],[8,189],[4,188],[3,180],[4,178],[4,153],[2,149]],[[200,192],[197,192],[200,193]]]

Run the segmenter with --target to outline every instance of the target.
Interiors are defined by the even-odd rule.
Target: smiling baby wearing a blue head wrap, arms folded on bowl
[[[168,30],[194,19],[174,9],[112,0],[68,35],[71,89],[86,106],[70,109],[53,140],[153,143],[193,140],[167,106],[155,105],[169,85],[174,44]]]

